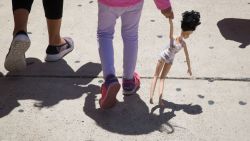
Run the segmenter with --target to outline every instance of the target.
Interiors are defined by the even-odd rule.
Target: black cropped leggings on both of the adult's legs
[[[12,0],[13,12],[17,9],[31,11],[33,0]],[[43,0],[45,17],[47,19],[61,19],[63,13],[63,0]]]

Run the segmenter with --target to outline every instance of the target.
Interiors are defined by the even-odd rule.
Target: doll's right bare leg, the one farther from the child
[[[164,89],[164,80],[165,76],[168,74],[169,70],[171,68],[171,64],[165,63],[161,74],[160,74],[160,93],[159,93],[159,105],[164,105],[162,102],[162,94],[163,94],[163,89]]]

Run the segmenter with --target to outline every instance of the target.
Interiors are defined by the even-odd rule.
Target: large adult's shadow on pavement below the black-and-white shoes
[[[27,62],[25,71],[8,73],[0,79],[0,118],[20,106],[18,100],[32,99],[35,107],[49,108],[84,93],[99,93],[99,86],[90,84],[101,72],[98,63],[88,62],[75,72],[65,60],[43,63],[28,58]]]

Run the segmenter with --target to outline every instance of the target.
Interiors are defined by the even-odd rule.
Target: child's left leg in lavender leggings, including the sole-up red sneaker
[[[103,109],[111,108],[116,103],[116,95],[119,92],[120,84],[115,77],[113,35],[116,19],[122,10],[112,8],[104,4],[98,4],[98,43],[99,55],[102,64],[105,82],[102,84],[102,97],[99,100],[100,107]]]

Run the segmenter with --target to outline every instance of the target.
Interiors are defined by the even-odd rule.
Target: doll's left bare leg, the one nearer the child
[[[152,80],[151,83],[151,87],[150,87],[150,103],[153,104],[153,96],[154,96],[154,91],[155,91],[155,86],[157,83],[157,79],[162,71],[162,68],[164,66],[165,62],[159,60],[155,69],[155,74],[154,74],[154,78]]]

